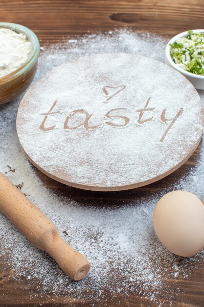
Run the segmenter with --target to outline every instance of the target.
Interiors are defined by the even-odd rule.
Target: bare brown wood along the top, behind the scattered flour
[[[0,0],[0,20],[28,26],[42,44],[131,26],[172,35],[204,27],[203,0]]]

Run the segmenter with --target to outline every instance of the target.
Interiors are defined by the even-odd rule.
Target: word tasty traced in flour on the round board
[[[143,115],[144,115],[145,112],[151,112],[151,111],[154,111],[156,109],[155,107],[151,107],[151,108],[148,107],[150,99],[151,99],[151,97],[149,97],[147,99],[143,108],[136,110],[136,112],[138,113],[138,118],[137,118],[136,124],[144,125],[145,123],[151,122],[153,120],[154,116],[150,116],[148,118],[143,119]],[[42,130],[43,132],[48,132],[48,131],[51,131],[51,130],[56,128],[56,125],[53,125],[53,126],[50,126],[50,127],[49,126],[45,127],[45,122],[50,115],[61,113],[61,111],[53,111],[57,102],[58,101],[56,100],[52,104],[50,110],[47,113],[42,114],[44,116],[44,120],[43,120],[42,124],[40,125],[40,130]],[[117,111],[120,111],[120,114],[115,114]],[[65,119],[63,128],[65,130],[75,130],[75,129],[78,129],[80,127],[84,127],[86,130],[93,130],[93,129],[100,128],[102,125],[108,125],[108,126],[111,126],[111,127],[114,127],[114,128],[124,128],[130,123],[130,118],[128,118],[127,116],[122,114],[122,112],[125,112],[125,111],[127,111],[127,109],[124,108],[124,107],[111,109],[110,111],[108,111],[105,114],[105,118],[109,119],[109,121],[105,121],[103,123],[99,123],[98,125],[91,126],[90,119],[91,119],[93,113],[89,113],[85,109],[76,109],[76,110],[73,110],[67,116],[67,118]],[[165,123],[165,124],[169,123],[169,125],[166,128],[166,130],[164,131],[163,135],[161,136],[159,142],[164,141],[164,139],[165,139],[167,133],[169,132],[169,130],[175,124],[176,120],[181,116],[183,109],[181,108],[177,112],[175,117],[173,117],[171,119],[166,118],[166,111],[167,111],[167,109],[163,109],[163,111],[161,112],[161,115],[160,115],[160,120],[161,120],[162,123]],[[80,121],[80,123],[75,123],[74,126],[70,126],[69,125],[70,119],[74,118],[74,117],[77,119],[77,114],[82,114],[84,116],[83,122]],[[121,119],[123,122],[121,124],[115,123],[114,122],[115,119]]]

